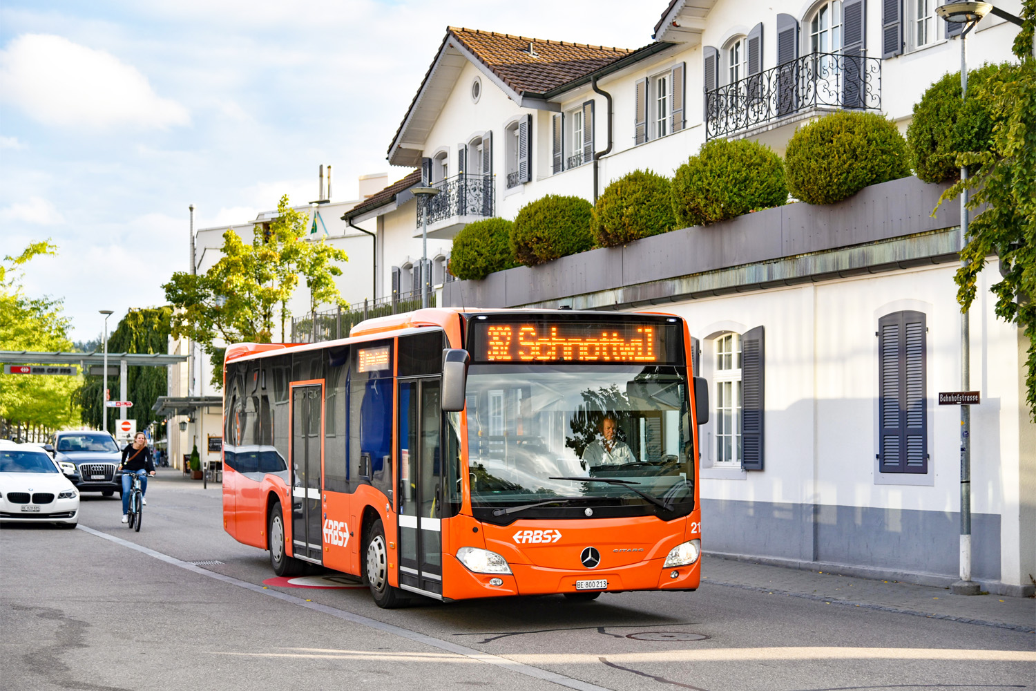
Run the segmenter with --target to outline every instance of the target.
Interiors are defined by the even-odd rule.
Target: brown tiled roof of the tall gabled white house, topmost
[[[448,31],[518,93],[544,93],[633,52],[478,29],[450,27]]]

